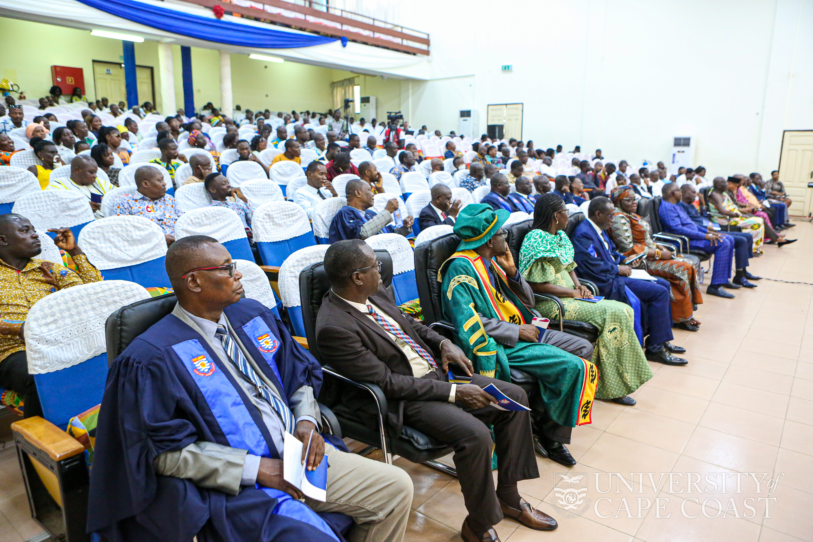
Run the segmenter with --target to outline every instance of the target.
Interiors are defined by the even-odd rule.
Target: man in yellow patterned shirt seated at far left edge
[[[40,237],[27,218],[0,215],[0,387],[16,392],[26,418],[41,416],[34,377],[28,374],[24,327],[28,310],[57,290],[102,280],[96,267],[76,245],[70,228],[50,229],[56,237]],[[71,256],[77,272],[37,258],[41,243],[54,242]]]

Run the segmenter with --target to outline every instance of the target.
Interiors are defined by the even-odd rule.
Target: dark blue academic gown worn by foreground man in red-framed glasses
[[[319,364],[258,301],[224,310],[234,334],[289,404],[302,386],[318,394]],[[316,514],[287,493],[243,487],[237,495],[157,475],[160,453],[197,441],[280,458],[259,410],[192,327],[168,314],[120,354],[107,375],[90,475],[88,531],[113,542],[343,540],[343,514]],[[290,405],[289,405],[290,406]],[[340,440],[324,436],[338,449]],[[334,525],[335,527],[329,527]]]

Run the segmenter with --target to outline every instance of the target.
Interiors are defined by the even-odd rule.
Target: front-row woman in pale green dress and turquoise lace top
[[[635,335],[633,308],[620,301],[580,301],[593,294],[573,271],[573,245],[565,226],[567,210],[562,198],[554,193],[540,197],[533,210],[533,229],[520,249],[520,273],[534,292],[561,299],[564,319],[598,327],[593,350],[593,363],[598,366],[596,398],[634,405],[635,400],[626,396],[652,378],[652,371]],[[538,301],[536,309],[546,318],[559,318],[554,301]]]

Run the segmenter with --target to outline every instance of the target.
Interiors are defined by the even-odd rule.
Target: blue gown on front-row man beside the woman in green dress
[[[649,345],[660,345],[672,340],[672,287],[659,277],[653,282],[619,275],[618,266],[624,257],[615,250],[615,244],[606,232],[602,232],[602,237],[610,247],[609,250],[588,220],[583,220],[576,227],[571,240],[575,249],[574,259],[578,264],[576,275],[592,280],[598,287],[598,293],[607,299],[633,306],[636,314],[638,304],[641,332],[650,336]]]

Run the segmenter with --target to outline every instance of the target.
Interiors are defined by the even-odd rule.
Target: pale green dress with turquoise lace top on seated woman
[[[520,249],[520,273],[528,282],[550,282],[572,289],[570,271],[575,268],[573,245],[564,231],[554,236],[549,232],[531,230],[525,236]],[[561,297],[560,301],[565,310],[564,319],[592,323],[598,328],[592,360],[598,366],[597,399],[624,397],[652,378],[635,335],[631,306],[609,299],[591,303]],[[546,318],[559,319],[559,309],[554,301],[537,301],[535,308]]]

